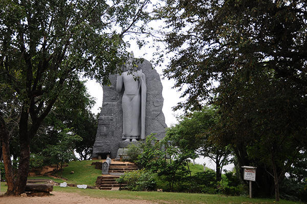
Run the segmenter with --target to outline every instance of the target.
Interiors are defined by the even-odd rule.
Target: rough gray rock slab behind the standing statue
[[[161,140],[165,137],[164,114],[162,112],[163,97],[162,83],[156,70],[152,69],[149,61],[138,63],[137,70],[142,70],[146,77],[146,117],[145,136],[156,133],[155,137]],[[116,92],[116,75],[109,77],[111,86],[103,86],[103,103],[98,121],[96,140],[93,147],[93,158],[106,158],[110,154],[115,158],[119,143],[122,143],[123,118],[122,95]],[[109,153],[110,152],[110,153]]]

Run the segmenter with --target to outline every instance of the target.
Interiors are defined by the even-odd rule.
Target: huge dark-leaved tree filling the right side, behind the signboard
[[[256,144],[271,156],[258,168],[263,175],[293,161],[306,145],[306,1],[165,2],[158,15],[171,28],[165,42],[174,55],[164,76],[187,97],[177,108],[200,109],[206,100],[219,106],[220,135],[233,141],[241,165],[259,160],[250,155]],[[258,190],[271,186],[265,180],[258,177]]]

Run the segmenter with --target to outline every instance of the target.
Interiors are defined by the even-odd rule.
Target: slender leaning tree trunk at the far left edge
[[[2,142],[4,169],[5,169],[5,174],[6,174],[6,181],[8,184],[8,190],[6,194],[14,195],[15,180],[14,180],[13,166],[12,166],[11,154],[10,154],[9,131],[7,130],[5,121],[2,118],[2,116],[0,116],[0,139]]]

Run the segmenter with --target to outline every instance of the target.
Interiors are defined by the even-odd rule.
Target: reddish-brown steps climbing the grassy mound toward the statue
[[[133,163],[112,162],[108,169],[109,174],[98,176],[95,186],[101,190],[118,190],[120,187],[125,186],[125,184],[117,183],[116,179],[125,172],[134,171],[137,169],[137,166]]]

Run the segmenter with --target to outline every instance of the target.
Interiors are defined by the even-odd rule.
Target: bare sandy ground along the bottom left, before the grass
[[[81,196],[77,193],[63,193],[52,192],[51,196],[43,197],[0,197],[1,204],[36,204],[36,203],[54,203],[54,204],[70,204],[70,203],[82,203],[82,204],[153,204],[158,202],[152,202],[148,200],[129,200],[129,199],[109,199],[109,198],[93,198],[89,196]]]

